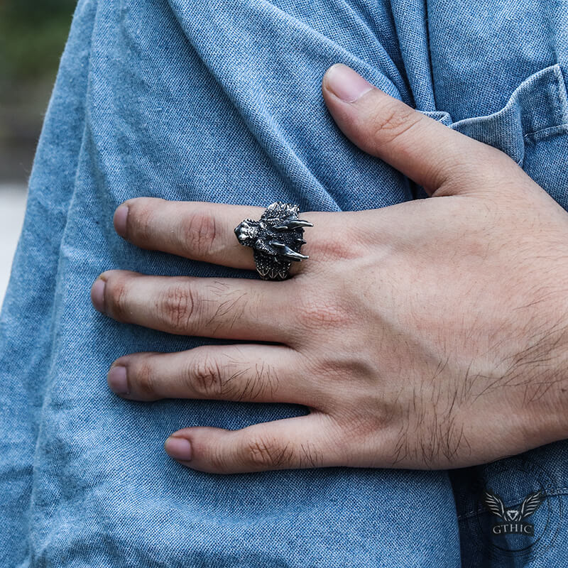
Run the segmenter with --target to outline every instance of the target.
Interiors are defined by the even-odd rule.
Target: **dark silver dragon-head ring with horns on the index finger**
[[[298,205],[277,201],[258,221],[245,219],[235,228],[239,243],[254,250],[256,271],[263,280],[286,280],[292,261],[308,258],[300,248],[306,244],[304,227],[313,225],[298,219],[298,212]]]

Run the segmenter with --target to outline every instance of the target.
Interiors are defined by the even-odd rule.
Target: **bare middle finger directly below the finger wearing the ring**
[[[119,322],[178,335],[287,342],[292,280],[102,273],[91,289],[94,307]]]

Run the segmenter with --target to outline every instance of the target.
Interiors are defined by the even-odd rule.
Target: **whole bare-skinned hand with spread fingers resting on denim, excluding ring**
[[[505,154],[347,67],[328,70],[322,92],[351,141],[433,197],[302,212],[314,224],[302,248],[310,259],[284,282],[103,273],[92,301],[116,320],[250,342],[130,354],[109,371],[111,388],[131,400],[310,408],[243,430],[186,428],[166,441],[182,464],[223,474],[451,468],[566,437],[566,212]],[[233,229],[262,212],[140,198],[114,223],[144,249],[252,270]]]

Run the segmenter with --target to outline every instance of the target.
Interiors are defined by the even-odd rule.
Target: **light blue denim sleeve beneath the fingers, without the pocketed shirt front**
[[[107,388],[122,354],[206,340],[99,315],[89,288],[101,271],[251,276],[136,249],[114,233],[119,203],[149,195],[337,211],[412,198],[408,180],[329,116],[320,85],[336,61],[412,102],[388,3],[78,6],[2,312],[2,566],[423,566],[440,555],[459,565],[445,472],[204,474],[165,455],[170,432],[307,409],[142,404]],[[407,511],[439,518],[438,537],[407,530]]]

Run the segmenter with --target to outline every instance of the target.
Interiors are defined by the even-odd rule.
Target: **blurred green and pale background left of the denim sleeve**
[[[0,0],[0,304],[33,154],[77,0]]]

